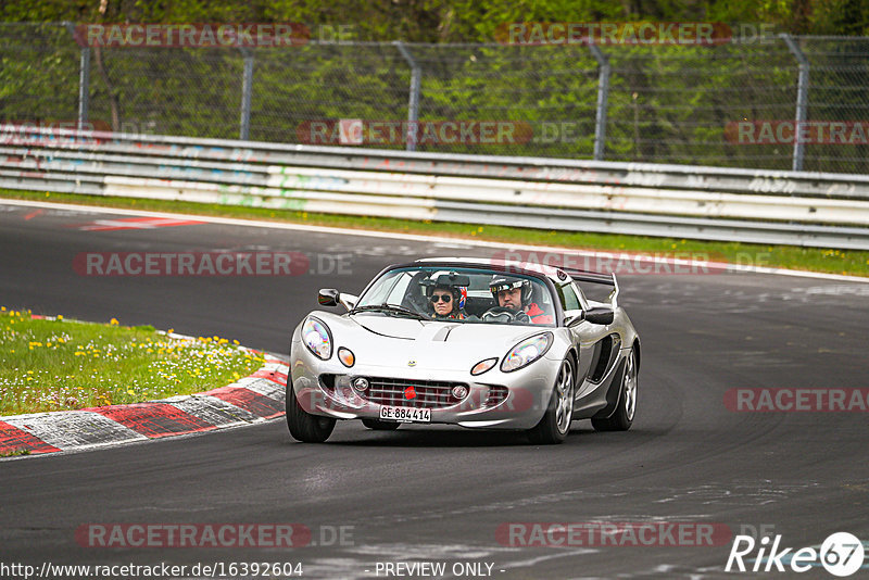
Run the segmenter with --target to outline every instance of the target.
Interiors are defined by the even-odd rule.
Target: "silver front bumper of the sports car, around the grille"
[[[450,424],[486,429],[531,429],[543,417],[552,395],[558,364],[546,357],[513,373],[494,368],[479,376],[467,370],[440,368],[364,365],[343,366],[332,354],[328,361],[314,356],[301,342],[293,342],[290,352],[290,377],[295,398],[307,413],[337,419],[377,419],[381,404],[369,401],[367,394],[356,392],[351,381],[356,377],[382,377],[415,381],[444,381],[463,383],[468,395],[445,406],[401,400],[393,406],[426,407],[431,409],[432,424]],[[333,380],[329,379],[333,377]],[[324,380],[325,379],[325,380]]]

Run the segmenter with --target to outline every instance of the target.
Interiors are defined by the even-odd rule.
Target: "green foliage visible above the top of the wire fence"
[[[792,34],[869,34],[865,0],[10,0],[0,22],[301,22],[352,25],[356,40],[489,42],[511,22],[770,23]]]

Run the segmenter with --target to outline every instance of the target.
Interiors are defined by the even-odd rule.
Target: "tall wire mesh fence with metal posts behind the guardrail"
[[[0,121],[285,143],[869,173],[869,38],[83,47],[0,25]]]

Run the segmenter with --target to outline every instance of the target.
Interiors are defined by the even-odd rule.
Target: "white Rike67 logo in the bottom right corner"
[[[862,567],[865,552],[860,540],[848,532],[830,534],[820,550],[781,547],[781,534],[772,541],[765,535],[759,542],[751,535],[736,535],[725,571],[807,572],[822,566],[831,575],[844,578]]]

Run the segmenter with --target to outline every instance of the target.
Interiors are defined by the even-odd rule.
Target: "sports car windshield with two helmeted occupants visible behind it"
[[[552,293],[538,278],[486,268],[419,266],[387,272],[352,314],[477,324],[555,326]]]

